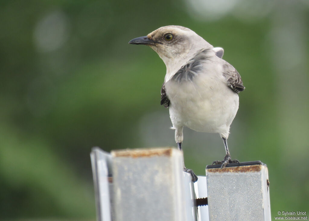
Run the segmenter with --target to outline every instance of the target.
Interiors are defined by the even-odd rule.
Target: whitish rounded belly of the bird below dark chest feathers
[[[165,88],[171,101],[169,111],[174,128],[186,126],[228,137],[239,97],[222,80],[199,75],[194,82],[170,80],[165,83]]]

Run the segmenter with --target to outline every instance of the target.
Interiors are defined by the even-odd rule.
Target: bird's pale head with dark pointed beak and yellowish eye
[[[150,46],[161,57],[167,69],[175,63],[187,62],[199,49],[213,48],[189,28],[174,25],[161,27],[147,36],[134,38],[129,44]]]

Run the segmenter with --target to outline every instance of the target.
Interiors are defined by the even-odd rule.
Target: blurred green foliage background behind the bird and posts
[[[308,211],[309,1],[0,1],[0,219],[95,220],[89,153],[175,146],[165,65],[129,45],[188,27],[241,74],[232,158],[267,164],[272,217]],[[218,134],[184,130],[187,168],[221,159]]]

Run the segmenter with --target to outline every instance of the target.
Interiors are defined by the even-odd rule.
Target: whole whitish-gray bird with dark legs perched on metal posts
[[[183,128],[218,133],[225,156],[212,164],[238,163],[227,146],[230,126],[239,108],[243,81],[238,71],[222,59],[223,49],[214,48],[197,33],[182,26],[164,26],[129,44],[148,45],[163,60],[166,75],[161,88],[161,105],[169,109],[177,147],[182,151]],[[184,171],[197,181],[193,170]]]

